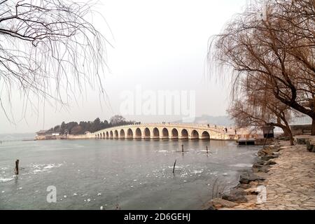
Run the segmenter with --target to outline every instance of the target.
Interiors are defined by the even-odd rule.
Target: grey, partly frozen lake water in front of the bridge
[[[214,183],[235,186],[258,150],[234,141],[3,141],[0,209],[202,209]],[[57,203],[46,201],[48,186]]]

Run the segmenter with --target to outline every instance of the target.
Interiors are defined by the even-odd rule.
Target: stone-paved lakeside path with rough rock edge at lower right
[[[303,138],[296,138],[295,146],[279,141],[260,150],[260,159],[241,174],[238,186],[211,200],[207,209],[315,209],[315,139]]]

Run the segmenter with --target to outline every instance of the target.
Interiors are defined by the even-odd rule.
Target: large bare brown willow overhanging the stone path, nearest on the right
[[[314,0],[251,4],[214,37],[209,59],[232,72],[234,97],[244,78],[265,83],[275,99],[313,120],[314,135],[314,30]]]

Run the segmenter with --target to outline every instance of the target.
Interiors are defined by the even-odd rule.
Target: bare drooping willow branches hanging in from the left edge
[[[66,104],[86,85],[102,91],[106,39],[89,22],[90,3],[0,0],[0,105],[13,94]],[[35,98],[34,98],[35,97]]]

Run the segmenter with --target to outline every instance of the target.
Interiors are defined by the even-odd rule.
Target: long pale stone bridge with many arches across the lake
[[[224,127],[195,124],[139,124],[111,127],[90,134],[95,139],[187,139],[187,140],[230,140],[233,134]]]

